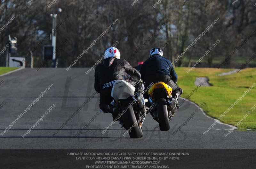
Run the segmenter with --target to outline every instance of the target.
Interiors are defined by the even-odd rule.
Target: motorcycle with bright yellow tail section
[[[161,131],[170,130],[170,120],[176,112],[176,103],[172,98],[172,88],[162,81],[156,82],[148,90],[149,103],[154,106],[150,114],[159,123]]]

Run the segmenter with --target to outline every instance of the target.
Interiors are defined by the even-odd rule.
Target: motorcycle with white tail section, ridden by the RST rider
[[[146,111],[140,109],[144,107],[144,100],[134,94],[134,91],[135,87],[127,81],[116,81],[111,91],[111,96],[114,98],[111,104],[118,109],[118,117],[120,117],[118,122],[129,132],[130,137],[140,138],[143,137],[141,127],[146,117]]]

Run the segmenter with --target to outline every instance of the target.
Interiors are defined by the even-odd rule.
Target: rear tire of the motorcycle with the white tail
[[[129,106],[129,103],[124,102],[122,105],[122,111],[127,109],[128,106]],[[129,129],[130,127],[132,127],[133,124],[136,124],[134,127],[132,127],[132,130],[129,132],[129,135],[131,138],[140,138],[143,136],[143,132],[137,123],[132,107],[124,113],[123,120],[124,120],[125,129]]]

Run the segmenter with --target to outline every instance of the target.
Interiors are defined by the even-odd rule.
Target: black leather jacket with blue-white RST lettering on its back
[[[134,69],[126,60],[117,58],[104,59],[95,68],[94,88],[100,93],[100,105],[109,104],[112,87],[117,80],[123,80],[124,74],[129,74],[133,80],[140,80],[140,72]]]

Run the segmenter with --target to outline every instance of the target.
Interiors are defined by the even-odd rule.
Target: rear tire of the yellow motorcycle
[[[170,130],[166,100],[164,98],[159,98],[156,101],[156,106],[157,106],[156,109],[157,109],[159,129],[161,131]]]

